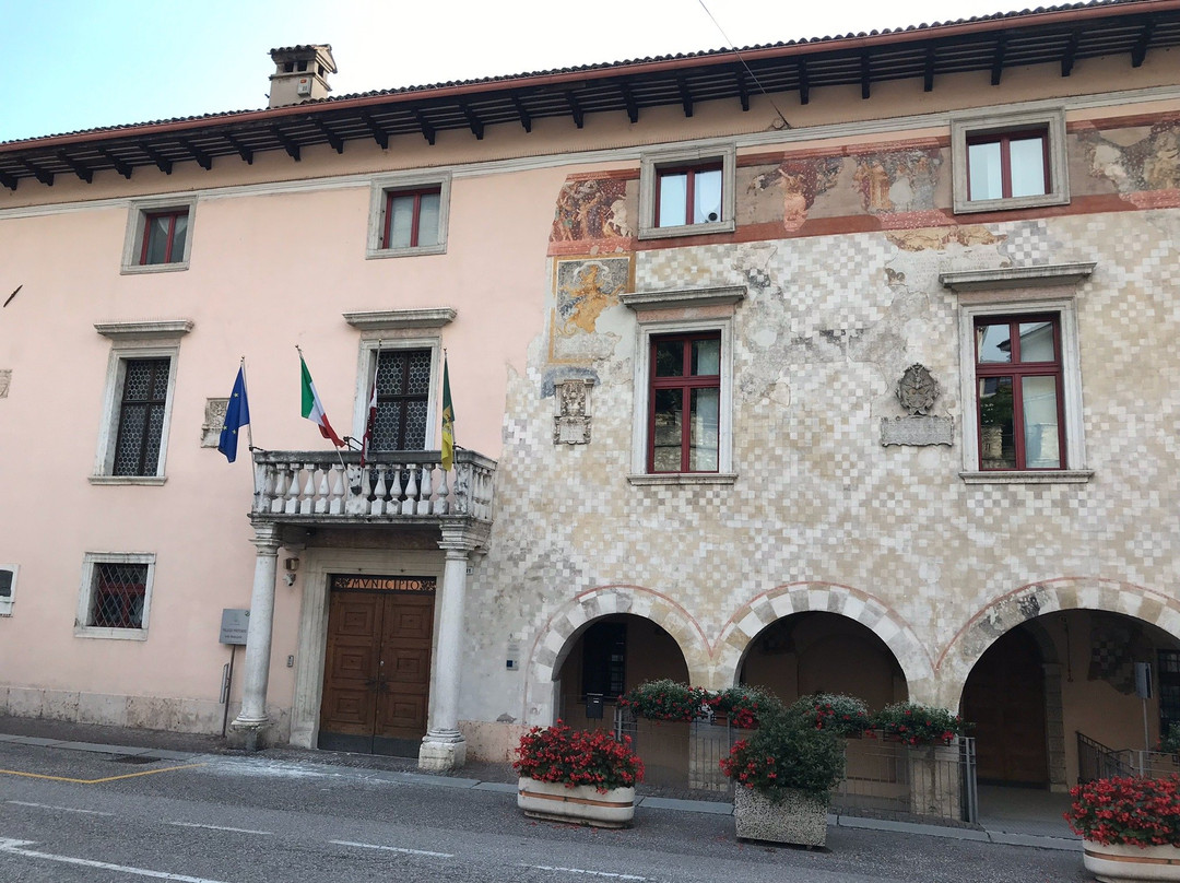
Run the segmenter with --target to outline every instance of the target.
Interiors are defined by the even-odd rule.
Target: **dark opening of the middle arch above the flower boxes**
[[[905,674],[889,646],[861,623],[805,611],[762,629],[739,669],[742,683],[766,687],[784,702],[809,693],[844,693],[871,711],[907,698]]]

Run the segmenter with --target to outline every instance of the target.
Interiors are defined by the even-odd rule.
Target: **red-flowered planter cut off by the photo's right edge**
[[[1069,796],[1066,820],[1097,879],[1180,881],[1180,776],[1095,779]]]

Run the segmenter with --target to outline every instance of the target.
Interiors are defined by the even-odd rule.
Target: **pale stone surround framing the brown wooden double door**
[[[291,701],[290,744],[314,748],[320,738],[320,702],[323,698],[323,665],[328,643],[329,574],[384,576],[433,576],[442,581],[446,555],[441,550],[327,549],[308,548],[302,558],[302,599],[299,642],[295,652],[295,694]],[[434,634],[438,646],[440,611],[435,596]],[[433,701],[433,695],[431,701]]]

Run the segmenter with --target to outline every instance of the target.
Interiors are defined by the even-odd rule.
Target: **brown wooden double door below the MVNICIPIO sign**
[[[332,576],[321,748],[418,757],[430,706],[433,577]]]

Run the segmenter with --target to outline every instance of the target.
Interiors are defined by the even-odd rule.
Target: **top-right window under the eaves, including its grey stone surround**
[[[1062,111],[955,119],[951,151],[957,212],[1069,202]]]

